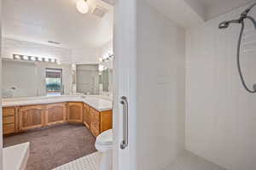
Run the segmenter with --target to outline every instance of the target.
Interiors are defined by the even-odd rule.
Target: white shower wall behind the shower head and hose
[[[239,17],[242,8],[187,31],[186,146],[228,170],[256,168],[256,95],[241,86],[236,68],[239,26],[218,23]],[[256,9],[252,15],[256,17]],[[247,26],[241,67],[256,82],[256,33]]]

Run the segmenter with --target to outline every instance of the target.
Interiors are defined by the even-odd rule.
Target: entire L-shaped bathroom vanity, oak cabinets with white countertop
[[[55,96],[3,100],[3,134],[63,122],[84,123],[96,137],[112,128],[112,101],[100,96]]]

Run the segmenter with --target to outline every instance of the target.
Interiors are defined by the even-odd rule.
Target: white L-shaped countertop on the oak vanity
[[[41,104],[51,104],[60,102],[84,102],[90,105],[97,111],[109,111],[112,110],[112,100],[101,95],[61,95],[61,96],[38,96],[29,98],[17,98],[17,99],[3,99],[3,107],[9,106],[20,106],[20,105],[41,105]]]

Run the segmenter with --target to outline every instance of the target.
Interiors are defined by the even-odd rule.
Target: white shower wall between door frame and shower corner
[[[137,3],[137,169],[166,169],[184,149],[185,31]]]

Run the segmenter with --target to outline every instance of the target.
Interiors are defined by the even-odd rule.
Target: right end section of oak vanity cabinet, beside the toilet
[[[96,111],[90,107],[90,131],[96,137],[112,128],[112,111]]]

